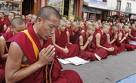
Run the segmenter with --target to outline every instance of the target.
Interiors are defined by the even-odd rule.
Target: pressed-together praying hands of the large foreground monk
[[[55,55],[55,48],[53,45],[49,45],[47,48],[43,48],[39,53],[39,64],[44,66],[53,61]]]

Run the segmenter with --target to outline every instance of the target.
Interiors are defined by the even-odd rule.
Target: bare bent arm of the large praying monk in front
[[[52,48],[49,48],[49,49],[50,49],[49,51],[51,52]],[[52,55],[53,53],[50,53],[50,54]],[[48,54],[45,54],[45,55],[48,55]],[[10,46],[9,56],[6,62],[6,69],[5,69],[6,83],[15,83],[17,81],[20,81],[26,78],[27,76],[31,75],[32,73],[36,72],[38,69],[40,69],[44,65],[48,64],[48,60],[47,60],[47,57],[45,58],[45,55],[40,55],[39,60],[35,62],[34,64],[26,68],[20,69],[23,52],[21,48],[17,45],[17,43],[13,42]],[[42,59],[44,59],[44,61]]]

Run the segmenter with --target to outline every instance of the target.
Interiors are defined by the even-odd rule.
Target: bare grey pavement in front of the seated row
[[[71,64],[62,66],[64,70],[70,69],[78,72],[83,83],[116,83],[118,80],[136,73],[136,50],[80,66]]]

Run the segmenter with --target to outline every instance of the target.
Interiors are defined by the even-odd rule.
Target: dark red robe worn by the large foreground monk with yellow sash
[[[45,46],[48,46],[46,44],[50,44],[48,43],[48,41],[45,41],[45,45],[41,46],[40,41],[38,40],[32,27],[28,28],[28,32],[32,37],[32,39],[34,40],[39,51],[43,49]],[[25,56],[28,59],[29,62],[28,64],[31,65],[37,61],[32,43],[24,32],[18,33],[14,37],[14,41],[18,43],[18,45],[21,47],[22,51],[24,52]],[[60,63],[55,58],[52,65],[48,65],[47,72],[45,72],[45,67],[43,67],[37,70],[36,72],[34,72],[32,75],[19,81],[18,83],[45,83],[46,74],[47,74],[46,76],[47,78],[51,76],[52,83],[82,83],[82,80],[80,79],[79,75],[76,72],[71,70],[61,71],[61,69],[62,67]]]

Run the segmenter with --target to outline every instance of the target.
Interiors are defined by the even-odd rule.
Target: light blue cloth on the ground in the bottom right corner
[[[117,81],[116,83],[136,83],[136,74],[133,74],[124,79],[121,79]]]

